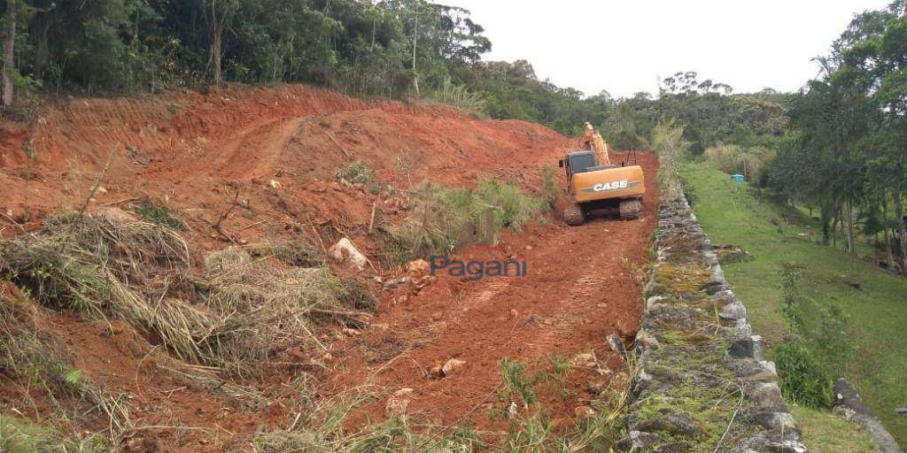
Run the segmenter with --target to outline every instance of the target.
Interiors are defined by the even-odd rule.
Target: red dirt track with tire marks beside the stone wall
[[[648,259],[649,234],[657,223],[656,159],[645,154],[639,160],[649,177],[641,219],[597,218],[579,227],[558,221],[504,237],[501,247],[492,248],[526,259],[527,277],[467,282],[442,275],[404,304],[383,307],[375,323],[390,326],[398,339],[405,341],[407,332],[425,325],[434,327],[433,335],[387,366],[369,366],[361,361],[362,342],[348,343],[338,352],[344,357],[336,366],[341,371],[328,378],[334,387],[327,393],[355,387],[366,377],[389,392],[410,388],[414,391],[408,411],[447,425],[463,421],[463,415],[476,405],[496,400],[488,397],[502,380],[502,359],[543,363],[552,353],[569,358],[594,352],[608,366],[618,368],[619,357],[605,338],[611,333],[630,335],[639,326],[640,287],[629,265]],[[467,248],[459,256],[507,259],[481,246]],[[442,380],[424,375],[451,358],[465,361],[462,369]],[[380,372],[371,374],[376,369]],[[595,379],[600,376],[590,370],[571,374],[575,396],[546,400],[552,418],[562,423],[573,419],[574,408],[591,398],[583,387]],[[369,405],[356,414],[354,422],[384,419],[384,404],[385,400],[378,400]],[[475,410],[468,419],[480,430],[506,426],[504,421],[491,421],[487,410]]]

